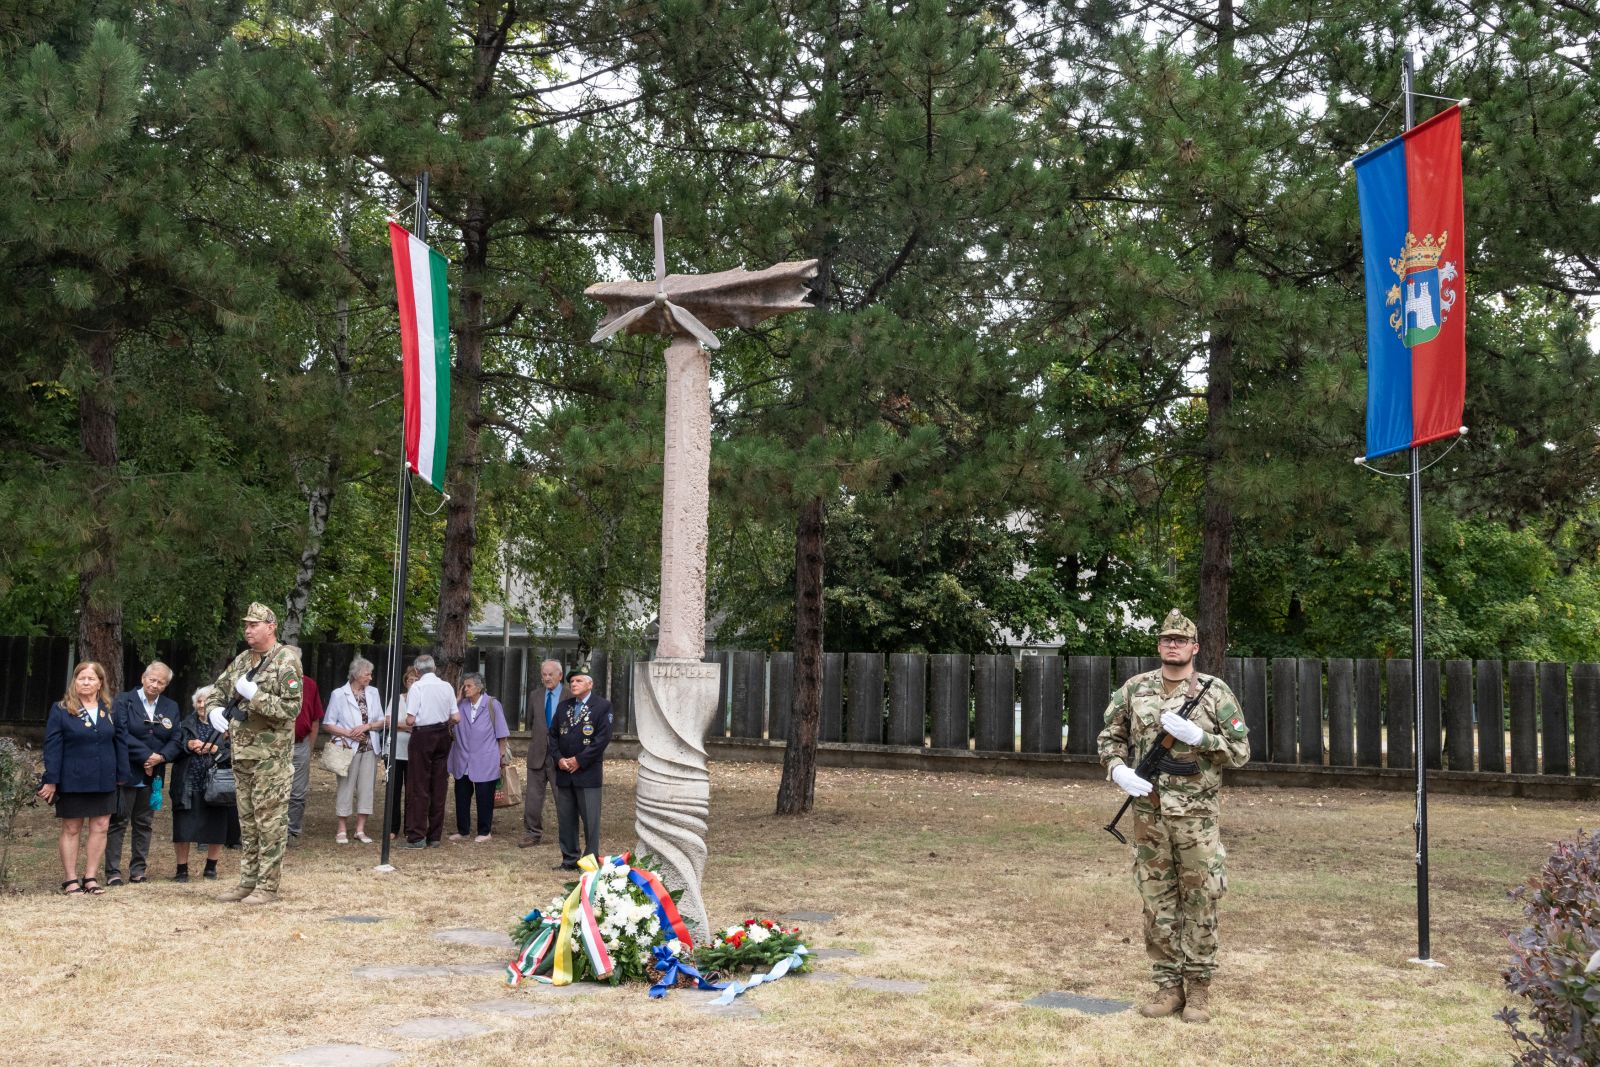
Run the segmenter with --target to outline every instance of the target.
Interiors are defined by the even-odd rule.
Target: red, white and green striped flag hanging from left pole
[[[405,386],[405,462],[435,490],[445,488],[450,445],[450,262],[397,222],[389,224],[400,298]]]

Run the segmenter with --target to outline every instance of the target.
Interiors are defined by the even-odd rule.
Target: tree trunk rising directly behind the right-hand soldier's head
[[[1234,0],[1218,0],[1218,74],[1227,77],[1234,62]],[[1211,205],[1211,270],[1227,274],[1238,262],[1238,232],[1227,206]],[[1234,410],[1234,325],[1211,323],[1206,366],[1205,507],[1200,518],[1200,597],[1195,624],[1206,673],[1222,673],[1227,659],[1227,590],[1234,576],[1234,506],[1227,498],[1227,421]]]

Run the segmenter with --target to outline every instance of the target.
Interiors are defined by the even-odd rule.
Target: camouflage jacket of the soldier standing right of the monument
[[[1160,774],[1155,793],[1134,800],[1136,808],[1149,811],[1152,801],[1158,800],[1162,814],[1216,816],[1216,790],[1222,784],[1222,768],[1245,766],[1250,761],[1250,731],[1245,728],[1245,717],[1238,710],[1234,691],[1221,678],[1195,672],[1195,686],[1205,685],[1206,680],[1211,680],[1211,688],[1189,712],[1189,720],[1205,731],[1200,744],[1173,742],[1173,758],[1195,761],[1200,773],[1187,777]],[[1173,696],[1162,697],[1160,670],[1134,675],[1122,683],[1110,694],[1106,728],[1099,736],[1099,757],[1107,777],[1120,763],[1138,766],[1162,733],[1162,713],[1176,712],[1187,699],[1189,686],[1179,686]]]

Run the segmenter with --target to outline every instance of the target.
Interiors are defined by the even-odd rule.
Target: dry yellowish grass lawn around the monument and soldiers
[[[784,979],[747,997],[760,1019],[718,1019],[642,987],[557,998],[494,976],[355,979],[362,965],[504,961],[432,934],[504,929],[547,901],[555,849],[518,849],[520,819],[501,811],[493,841],[397,851],[400,870],[378,875],[376,845],[334,845],[333,781],[318,768],[310,840],[264,910],[214,902],[234,853],[221,881],[168,881],[165,816],[155,880],[98,899],[54,894],[54,821],[32,811],[13,851],[22,891],[0,897],[0,1024],[22,1064],[262,1064],[330,1041],[392,1048],[414,1065],[1506,1064],[1491,1017],[1507,1003],[1498,968],[1518,923],[1506,891],[1595,822],[1594,805],[1432,798],[1434,955],[1448,966],[1429,971],[1406,963],[1408,793],[1229,790],[1218,1019],[1200,1029],[1021,1003],[1147,990],[1130,856],[1099,829],[1118,801],[1110,785],[822,769],[818,814],[778,819],[776,766],[712,774],[712,921],[834,912],[808,929],[813,947],[861,957],[822,968],[926,992]],[[614,763],[608,777],[603,843],[616,848],[632,843],[634,766]],[[386,921],[328,921],[346,913]],[[386,1033],[494,997],[544,997],[555,1011],[475,1016],[496,1029],[462,1041]]]

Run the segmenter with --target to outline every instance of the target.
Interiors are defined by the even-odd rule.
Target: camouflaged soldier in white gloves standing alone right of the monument
[[[1162,667],[1128,678],[1106,709],[1099,758],[1110,781],[1133,801],[1133,880],[1144,902],[1144,947],[1155,995],[1139,1006],[1147,1019],[1182,1011],[1184,1022],[1208,1022],[1216,969],[1216,904],[1227,889],[1227,851],[1218,830],[1222,768],[1250,761],[1248,731],[1227,683],[1195,670],[1195,624],[1173,609],[1162,622]],[[1202,691],[1187,720],[1178,712]],[[1134,766],[1162,731],[1173,736],[1171,758],[1190,776],[1163,773],[1147,782]]]

